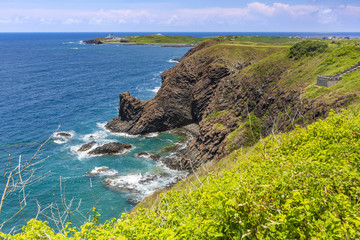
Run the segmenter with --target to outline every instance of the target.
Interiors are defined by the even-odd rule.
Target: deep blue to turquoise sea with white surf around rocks
[[[46,207],[55,201],[61,208],[61,193],[67,205],[72,203],[72,210],[79,206],[84,215],[98,202],[96,209],[104,222],[130,211],[134,204],[127,199],[141,200],[184,176],[185,173],[169,170],[156,161],[136,157],[139,152],[171,146],[179,141],[179,136],[111,134],[104,125],[117,115],[119,93],[129,91],[141,100],[154,97],[161,85],[161,73],[176,64],[170,60],[183,56],[190,48],[81,44],[81,40],[107,34],[0,33],[1,174],[9,154],[13,167],[20,155],[22,162],[29,160],[58,126],[59,131],[72,135],[70,139],[51,139],[38,154],[37,159],[49,157],[37,166],[36,176],[49,173],[27,188],[27,207],[3,231],[13,226],[19,228],[35,217],[38,206],[44,214],[51,214]],[[360,37],[359,33],[171,33],[199,37],[225,34]],[[113,141],[130,143],[133,149],[113,156],[89,156],[77,151],[92,140],[100,145]],[[89,175],[101,166],[110,170],[98,176]],[[114,187],[129,190],[108,188],[104,183],[108,177]],[[3,187],[1,180],[0,194]],[[18,196],[10,196],[5,201],[0,223],[19,209],[17,199]],[[38,218],[45,219],[41,214]]]

